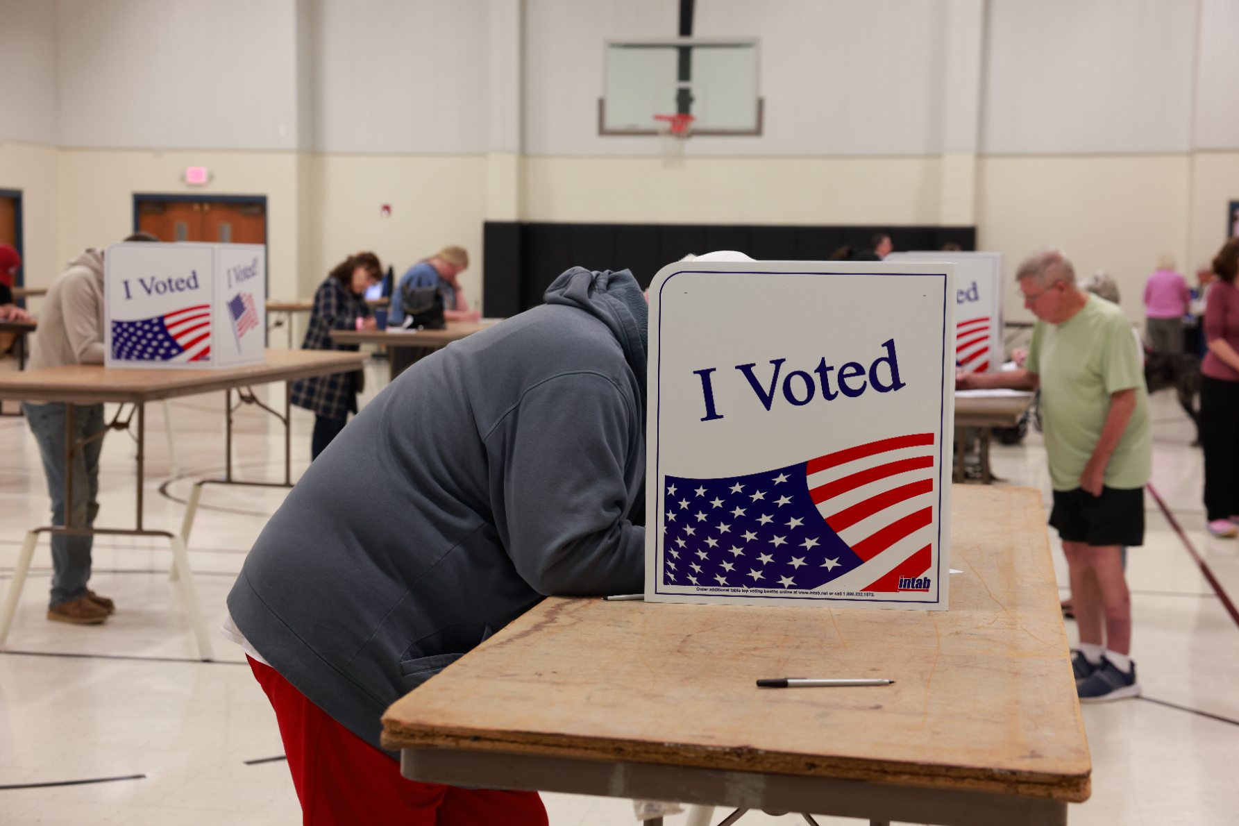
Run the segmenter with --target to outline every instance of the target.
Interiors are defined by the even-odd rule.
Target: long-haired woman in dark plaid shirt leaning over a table
[[[331,338],[333,329],[374,329],[374,318],[366,303],[366,289],[383,280],[383,265],[374,253],[349,255],[336,265],[313,293],[310,323],[301,342],[304,350],[357,350],[357,344],[339,344]],[[362,390],[361,370],[313,375],[292,383],[289,401],[313,411],[313,436],[310,459],[331,445],[344,430],[348,414],[357,412],[357,394]]]

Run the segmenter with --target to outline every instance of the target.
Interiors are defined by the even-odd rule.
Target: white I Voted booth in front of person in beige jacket
[[[113,244],[104,255],[107,367],[263,360],[266,251],[258,244]]]

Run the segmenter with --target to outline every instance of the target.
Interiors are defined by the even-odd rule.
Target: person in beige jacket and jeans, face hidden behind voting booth
[[[150,233],[136,233],[126,241],[157,241]],[[104,305],[103,251],[87,249],[69,261],[47,289],[38,332],[30,355],[31,369],[63,364],[103,364]],[[63,402],[24,401],[30,430],[38,442],[52,498],[52,524],[64,524],[64,420]],[[99,453],[103,450],[103,405],[73,406],[73,438],[87,442],[73,457],[73,524],[89,528],[99,510]],[[95,625],[116,608],[112,599],[87,587],[90,580],[92,537],[52,535],[52,593],[47,618],[64,623]]]

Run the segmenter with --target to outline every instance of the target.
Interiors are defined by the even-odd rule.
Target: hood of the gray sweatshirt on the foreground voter
[[[591,272],[574,266],[546,287],[544,298],[546,303],[584,310],[607,326],[623,348],[628,367],[637,374],[644,407],[649,305],[632,272]]]

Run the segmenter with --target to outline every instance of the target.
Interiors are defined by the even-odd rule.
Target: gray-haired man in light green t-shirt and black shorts
[[[1070,571],[1080,648],[1072,654],[1080,702],[1140,695],[1131,661],[1131,598],[1124,545],[1142,545],[1144,485],[1152,463],[1149,393],[1131,324],[1118,306],[1075,285],[1058,250],[1016,272],[1038,321],[1023,367],[964,373],[955,388],[1041,390],[1046,458],[1054,489],[1049,524]]]

